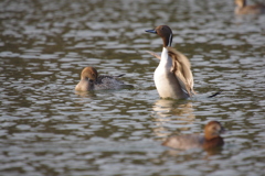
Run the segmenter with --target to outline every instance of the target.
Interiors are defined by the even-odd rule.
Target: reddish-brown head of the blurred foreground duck
[[[224,128],[219,121],[210,121],[204,128],[204,135],[206,140],[220,138],[224,132]]]

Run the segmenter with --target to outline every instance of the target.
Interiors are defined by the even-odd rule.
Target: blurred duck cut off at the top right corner
[[[234,3],[236,4],[235,14],[265,14],[265,6],[262,3],[246,6],[246,0],[235,0]]]

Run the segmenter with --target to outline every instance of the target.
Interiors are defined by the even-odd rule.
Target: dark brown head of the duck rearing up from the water
[[[163,41],[163,47],[171,46],[173,33],[168,25],[159,25],[153,30],[146,30],[146,32],[158,34]]]

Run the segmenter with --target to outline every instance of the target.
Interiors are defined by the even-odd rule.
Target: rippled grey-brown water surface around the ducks
[[[251,2],[250,2],[251,3]],[[0,1],[0,175],[264,175],[265,15],[224,0]],[[152,74],[167,24],[192,65],[190,100]],[[76,92],[83,67],[132,90]],[[208,99],[220,89],[222,95]],[[227,130],[222,150],[172,151],[168,135]]]

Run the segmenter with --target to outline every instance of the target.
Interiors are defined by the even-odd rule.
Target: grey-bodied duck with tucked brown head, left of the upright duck
[[[91,91],[91,90],[112,90],[112,89],[131,89],[132,85],[125,85],[119,77],[124,76],[109,76],[99,75],[94,67],[85,67],[81,73],[81,80],[75,86],[76,91]]]

